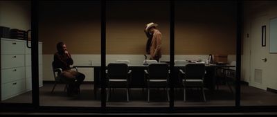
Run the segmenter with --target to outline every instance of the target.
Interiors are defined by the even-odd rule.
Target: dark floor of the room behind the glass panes
[[[44,84],[39,89],[39,98],[41,106],[69,106],[69,107],[100,107],[100,90],[96,99],[93,95],[93,84],[82,84],[80,96],[68,97],[64,92],[64,84],[58,84],[54,93],[51,93],[53,84]],[[277,94],[242,85],[241,87],[241,105],[260,106],[277,105]],[[175,89],[176,107],[204,107],[204,106],[234,106],[235,98],[230,89],[226,86],[220,86],[219,90],[210,91],[205,89],[206,102],[203,101],[201,91],[189,89],[186,93],[187,101],[184,102],[184,93],[182,89]],[[15,96],[2,102],[31,102],[31,91]],[[147,102],[146,92],[142,89],[130,89],[129,102],[126,101],[125,89],[114,89],[111,91],[111,97],[107,102],[107,107],[168,107],[169,102],[166,98],[164,89],[152,89],[150,91],[150,102]]]

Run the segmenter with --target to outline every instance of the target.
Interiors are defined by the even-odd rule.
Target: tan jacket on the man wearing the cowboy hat
[[[152,37],[152,42],[150,46],[150,55],[151,59],[159,59],[161,58],[161,32],[157,30]]]

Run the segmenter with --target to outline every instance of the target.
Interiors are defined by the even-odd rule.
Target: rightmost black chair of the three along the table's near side
[[[181,73],[181,82],[184,87],[184,101],[186,101],[186,89],[189,87],[197,87],[202,89],[204,102],[206,97],[204,93],[204,75],[205,64],[186,64],[183,70],[179,70]]]

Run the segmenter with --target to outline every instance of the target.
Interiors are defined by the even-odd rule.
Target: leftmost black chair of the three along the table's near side
[[[125,63],[110,63],[107,66],[107,101],[109,100],[111,88],[126,88],[127,102],[129,102],[129,82],[131,79],[131,70]]]

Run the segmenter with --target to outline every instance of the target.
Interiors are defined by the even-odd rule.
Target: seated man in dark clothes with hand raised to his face
[[[62,73],[60,78],[67,84],[66,92],[68,96],[72,94],[80,93],[80,84],[84,81],[84,74],[73,71],[70,65],[73,64],[73,60],[69,51],[67,51],[66,44],[64,42],[57,43],[57,53],[54,55],[54,69],[61,68]]]

